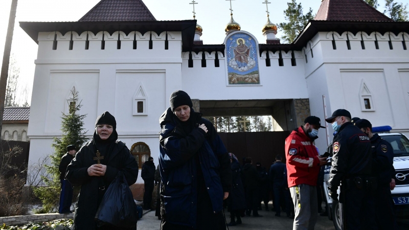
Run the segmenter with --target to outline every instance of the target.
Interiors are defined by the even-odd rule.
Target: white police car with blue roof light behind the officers
[[[409,140],[402,133],[391,133],[390,126],[373,127],[373,133],[378,133],[382,139],[392,145],[394,152],[393,166],[396,171],[396,187],[391,191],[395,202],[395,215],[397,217],[409,216]],[[332,144],[327,151],[332,156]],[[327,200],[328,218],[334,222],[335,229],[342,229],[342,205],[333,201],[328,195],[328,179],[331,164],[327,164],[324,171],[324,192]],[[339,188],[338,188],[339,194]]]

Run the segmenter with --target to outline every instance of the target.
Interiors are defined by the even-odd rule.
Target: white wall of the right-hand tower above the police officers
[[[336,50],[333,49],[332,34]],[[356,35],[350,32],[342,35],[336,32],[317,34],[311,41],[314,58],[308,56],[306,65],[311,114],[318,114],[315,116],[324,119],[322,96],[325,95],[328,116],[336,109],[345,108],[352,117],[368,119],[373,126],[390,125],[394,132],[408,132],[409,50],[403,49],[402,36],[409,48],[409,35],[406,33],[399,36],[375,32],[370,35],[365,32]],[[365,50],[361,46],[362,38]],[[350,50],[347,47],[348,39]],[[375,47],[375,40],[378,40],[379,49]],[[393,50],[390,49],[389,40],[392,41]],[[371,110],[366,110],[362,105],[363,83],[370,90]],[[331,126],[329,133],[329,140],[332,141]],[[321,137],[323,134],[320,130]],[[320,149],[327,146],[327,141],[323,139],[316,141]]]

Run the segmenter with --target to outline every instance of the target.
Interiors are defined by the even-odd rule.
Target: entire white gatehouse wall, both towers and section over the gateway
[[[70,90],[79,91],[81,114],[87,114],[85,129],[91,137],[97,116],[109,111],[117,119],[119,139],[128,148],[146,143],[157,164],[158,118],[169,106],[169,96],[176,89],[187,91],[198,100],[305,99],[311,114],[324,124],[338,108],[348,109],[353,117],[366,118],[374,126],[390,125],[393,131],[409,132],[409,51],[403,50],[403,37],[409,48],[409,35],[381,35],[359,32],[320,32],[302,51],[294,51],[297,65],[291,65],[291,51],[283,52],[284,66],[279,66],[279,52],[266,52],[259,59],[260,85],[229,85],[225,57],[218,53],[220,67],[215,67],[215,52],[206,53],[207,67],[201,67],[202,53],[181,53],[181,33],[131,32],[112,35],[99,32],[73,32],[73,50],[69,50],[71,32],[39,33],[38,58],[35,61],[29,133],[30,163],[52,152],[54,136],[59,136],[61,112],[68,111]],[[85,50],[88,34],[89,49]],[[105,49],[101,50],[104,34]],[[137,35],[137,49],[133,38]],[[152,36],[151,36],[152,34]],[[403,36],[403,37],[402,37]],[[121,49],[117,49],[118,37]],[[152,37],[153,49],[149,49]],[[361,47],[364,40],[365,50]],[[335,40],[336,50],[333,49]],[[348,50],[347,40],[351,49]],[[379,49],[375,48],[378,40]],[[390,49],[391,41],[393,50]],[[373,109],[362,109],[362,85],[370,91]],[[367,95],[368,92],[366,92]],[[327,107],[324,108],[323,96]],[[135,113],[135,100],[145,102],[144,113]],[[365,108],[365,106],[364,106]],[[316,145],[324,152],[332,141],[333,130],[320,130]],[[327,135],[328,134],[328,135]],[[10,134],[12,135],[12,133]],[[140,178],[138,182],[143,182]]]

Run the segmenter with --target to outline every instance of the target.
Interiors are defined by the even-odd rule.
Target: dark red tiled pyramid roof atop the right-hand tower
[[[363,0],[323,0],[314,20],[393,21]]]

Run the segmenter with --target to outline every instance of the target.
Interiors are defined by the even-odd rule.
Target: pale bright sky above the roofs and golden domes
[[[77,21],[100,0],[18,0],[16,25],[12,44],[12,53],[20,66],[20,85],[30,88],[34,78],[34,60],[37,56],[37,44],[18,25],[18,21]],[[224,27],[230,20],[230,2],[226,0],[195,0],[197,23],[203,27],[201,39],[205,44],[221,44],[224,41]],[[144,0],[157,20],[193,19],[192,0]],[[264,0],[232,1],[233,17],[241,29],[252,33],[260,43],[265,43],[261,29],[266,23]],[[271,22],[278,24],[284,21],[283,11],[289,0],[269,0],[268,10]],[[304,12],[309,8],[315,14],[320,8],[321,0],[298,0]],[[384,1],[379,0],[379,11],[383,12]],[[408,4],[409,0],[397,0]],[[0,54],[3,57],[11,0],[2,0],[0,8]],[[280,32],[277,34],[279,38]],[[1,63],[0,63],[1,64]],[[31,90],[30,90],[31,92]],[[31,98],[31,93],[29,95]]]

